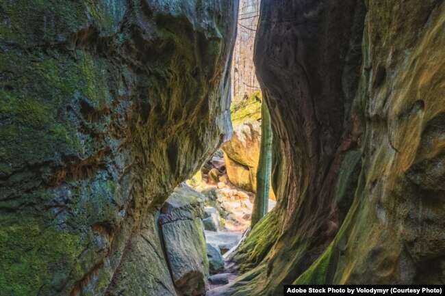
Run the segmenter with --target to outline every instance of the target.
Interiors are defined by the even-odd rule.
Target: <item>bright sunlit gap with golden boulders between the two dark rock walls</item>
[[[220,217],[214,207],[207,204],[203,219],[207,232],[241,234],[251,225],[262,117],[262,93],[253,64],[258,18],[259,0],[241,0],[231,67],[233,137],[186,182],[206,196],[209,191],[215,192],[214,202]],[[274,206],[275,194],[271,188],[268,211]]]

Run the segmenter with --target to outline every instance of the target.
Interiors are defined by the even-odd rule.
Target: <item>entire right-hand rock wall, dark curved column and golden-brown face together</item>
[[[262,1],[277,207],[222,295],[445,282],[445,3],[366,5],[365,18],[361,1]]]

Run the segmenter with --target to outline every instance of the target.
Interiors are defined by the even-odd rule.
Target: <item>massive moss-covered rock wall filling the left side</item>
[[[1,1],[2,293],[175,295],[154,216],[231,133],[237,8]]]

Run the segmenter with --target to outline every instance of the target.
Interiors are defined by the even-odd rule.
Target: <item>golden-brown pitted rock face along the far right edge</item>
[[[369,1],[357,104],[355,200],[327,273],[335,283],[445,283],[445,3]]]

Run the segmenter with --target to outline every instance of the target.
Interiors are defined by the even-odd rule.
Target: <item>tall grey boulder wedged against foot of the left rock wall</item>
[[[201,193],[181,185],[161,208],[159,223],[173,283],[183,295],[202,295],[209,261],[202,224]]]

